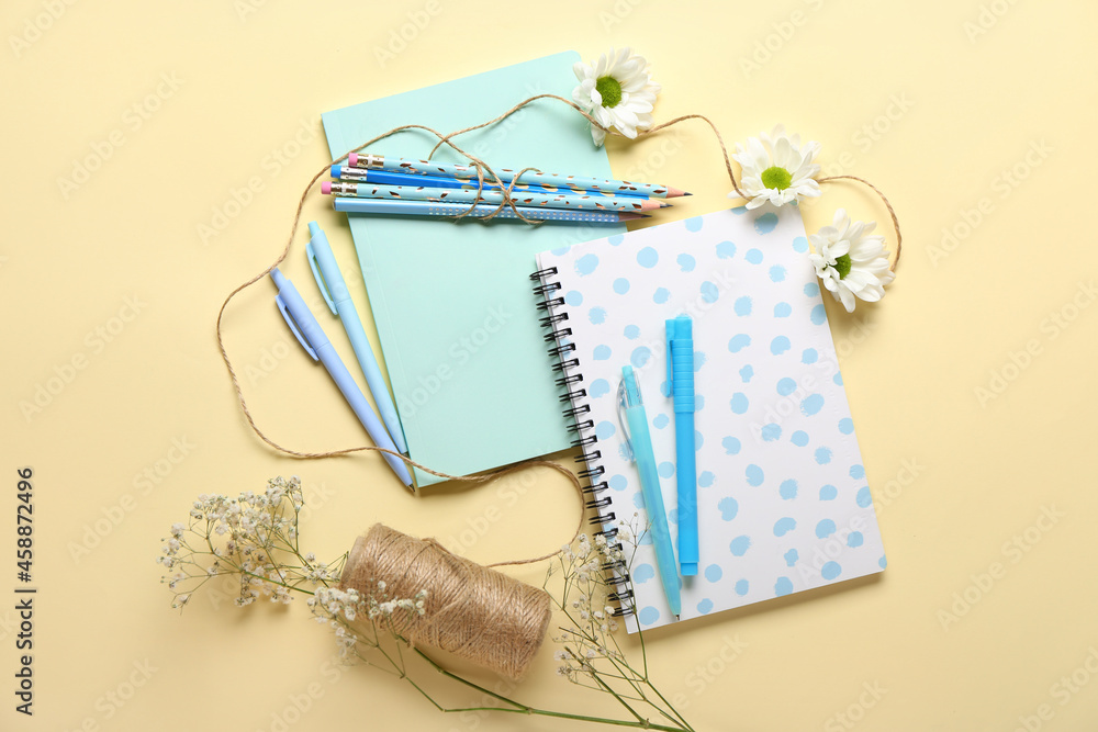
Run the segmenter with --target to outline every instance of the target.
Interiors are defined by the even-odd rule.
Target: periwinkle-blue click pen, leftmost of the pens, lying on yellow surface
[[[336,386],[343,392],[347,403],[350,404],[350,408],[355,410],[358,420],[366,427],[366,431],[369,432],[373,443],[379,448],[396,451],[396,446],[393,444],[389,433],[385,432],[381,420],[373,414],[373,409],[370,408],[370,404],[366,401],[362,390],[358,387],[358,384],[351,379],[350,372],[347,371],[347,367],[339,360],[339,354],[332,347],[327,336],[324,335],[324,330],[321,329],[321,325],[309,311],[309,306],[301,299],[298,289],[293,286],[293,282],[285,279],[285,275],[277,267],[271,272],[271,279],[278,285],[278,296],[274,297],[274,303],[278,305],[279,312],[282,313],[287,325],[290,326],[290,330],[293,331],[298,341],[305,349],[305,352],[314,361],[320,360],[324,364],[324,368],[328,370],[328,373],[332,374]],[[381,457],[385,459],[385,462],[396,473],[396,477],[401,478],[404,485],[412,487],[412,476],[408,474],[408,469],[404,464],[404,461],[388,452],[382,452]]]

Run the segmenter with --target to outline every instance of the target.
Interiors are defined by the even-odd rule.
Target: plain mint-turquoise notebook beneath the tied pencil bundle
[[[404,124],[452,132],[551,92],[571,98],[574,52],[410,91],[322,115],[332,157]],[[421,129],[370,153],[425,158],[437,139]],[[553,100],[456,138],[490,166],[612,178],[587,122]],[[437,160],[466,162],[447,148]],[[529,274],[535,255],[610,236],[624,226],[348,216],[396,408],[413,460],[463,475],[571,444],[559,374],[546,353]],[[336,237],[332,236],[333,244]],[[338,246],[338,245],[336,245]],[[440,478],[415,471],[421,486]]]

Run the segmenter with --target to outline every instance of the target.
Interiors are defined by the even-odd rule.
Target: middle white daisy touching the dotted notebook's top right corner
[[[780,206],[819,195],[816,176],[820,167],[814,162],[819,151],[819,143],[808,142],[802,147],[800,135],[786,135],[782,125],[769,135],[749,137],[747,147],[737,143],[732,159],[740,164],[740,189],[748,196],[748,209],[768,202]],[[728,198],[738,199],[740,194],[732,191]]]

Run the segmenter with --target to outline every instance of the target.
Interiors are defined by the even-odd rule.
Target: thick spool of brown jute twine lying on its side
[[[526,675],[549,629],[544,589],[381,523],[355,541],[339,586],[369,594],[378,581],[391,598],[427,590],[422,617],[393,616],[399,633],[514,680]]]

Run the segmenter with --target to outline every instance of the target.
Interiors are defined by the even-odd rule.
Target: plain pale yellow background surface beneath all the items
[[[731,4],[5,2],[0,727],[272,730],[312,689],[289,729],[573,729],[442,717],[399,680],[334,673],[329,634],[300,605],[242,612],[227,596],[199,596],[180,617],[153,559],[197,494],[292,473],[310,496],[304,539],[322,556],[376,520],[460,548],[469,521],[498,510],[464,549],[485,562],[568,536],[576,500],[548,476],[413,498],[376,455],[272,452],[243,419],[213,324],[225,294],[282,247],[326,160],[322,111],[561,49],[590,58],[632,45],[663,85],[659,120],[705,113],[730,143],[785,122],[822,143],[829,172],[886,191],[906,234],[879,306],[849,317],[829,303],[887,572],[653,633],[660,687],[682,695],[698,730],[1093,729],[1098,248],[1086,212],[1098,11],[1063,0]],[[415,16],[429,20],[379,58]],[[623,177],[694,191],[676,217],[726,204],[701,125],[610,156]],[[97,169],[75,173],[89,158]],[[250,179],[261,190],[231,205]],[[839,205],[884,221],[871,198],[833,185],[806,207],[808,228]],[[217,210],[228,219],[203,237]],[[318,196],[306,216],[337,230]],[[955,238],[943,243],[943,230]],[[303,244],[288,270],[307,283]],[[301,449],[359,443],[272,296],[254,288],[227,314],[257,419]],[[365,307],[360,280],[356,296]],[[27,412],[40,387],[54,393]],[[40,587],[33,719],[14,713],[11,694],[24,465],[35,471]],[[526,489],[509,502],[505,487]],[[983,577],[994,563],[997,578]],[[516,575],[538,581],[540,570]],[[546,654],[516,694],[613,711],[552,666]],[[1069,687],[1061,679],[1073,673]]]

